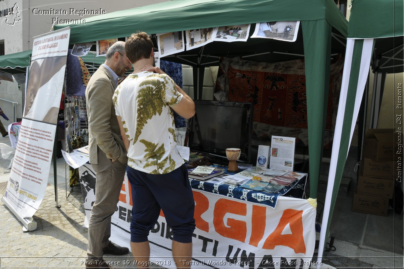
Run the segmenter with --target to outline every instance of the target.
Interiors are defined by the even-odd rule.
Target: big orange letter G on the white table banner
[[[219,235],[235,239],[240,242],[246,241],[247,224],[242,220],[235,220],[232,218],[227,219],[227,227],[224,223],[226,213],[233,213],[240,216],[247,215],[247,205],[237,201],[227,199],[219,199],[215,204],[213,211],[213,226]]]

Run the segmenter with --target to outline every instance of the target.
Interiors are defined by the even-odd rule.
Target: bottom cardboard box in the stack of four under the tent
[[[387,216],[389,199],[353,193],[352,211],[372,215]]]

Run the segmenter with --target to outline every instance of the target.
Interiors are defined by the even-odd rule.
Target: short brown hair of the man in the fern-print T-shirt
[[[145,32],[137,32],[128,37],[125,42],[126,57],[129,61],[135,63],[142,59],[149,59],[151,49],[154,47],[153,41]]]

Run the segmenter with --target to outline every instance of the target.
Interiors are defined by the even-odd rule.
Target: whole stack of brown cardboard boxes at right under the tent
[[[394,129],[369,129],[363,141],[352,211],[387,216],[394,188]]]

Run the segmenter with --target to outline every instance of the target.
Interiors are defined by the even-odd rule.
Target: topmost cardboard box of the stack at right
[[[362,156],[375,161],[394,158],[394,129],[369,129],[363,139]]]

